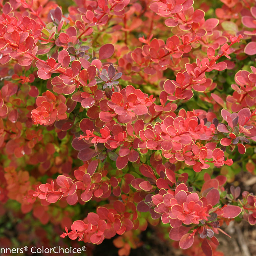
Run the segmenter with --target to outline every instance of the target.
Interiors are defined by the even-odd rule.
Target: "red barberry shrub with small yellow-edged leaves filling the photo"
[[[256,196],[225,190],[256,173],[254,1],[0,7],[4,209],[84,243],[117,234],[120,256],[148,225],[206,256],[224,222],[255,225]]]

